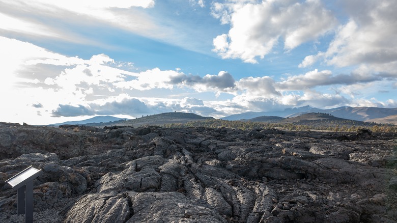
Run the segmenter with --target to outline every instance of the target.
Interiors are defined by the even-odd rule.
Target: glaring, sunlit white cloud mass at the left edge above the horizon
[[[107,97],[115,94],[111,93],[116,89],[112,83],[124,81],[132,74],[115,68],[117,63],[104,54],[83,60],[5,37],[0,37],[0,46],[4,49],[0,51],[0,61],[7,61],[0,68],[7,76],[0,81],[0,94],[13,96],[1,97],[1,104],[12,106],[12,109],[3,109],[2,115],[13,122],[37,120],[50,123],[51,110],[60,112],[52,114],[54,116],[71,116],[78,112],[80,115],[93,114],[82,109],[88,105],[86,98],[101,89],[105,89]],[[35,74],[35,70],[40,73]],[[60,104],[64,106],[57,109]],[[37,114],[41,115],[39,119]]]

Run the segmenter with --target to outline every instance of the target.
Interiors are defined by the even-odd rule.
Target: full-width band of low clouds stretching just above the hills
[[[205,76],[184,74],[180,69],[131,72],[132,63],[119,63],[105,54],[84,60],[4,37],[0,45],[5,49],[0,51],[0,61],[7,61],[0,67],[6,77],[0,82],[0,94],[12,95],[0,98],[2,105],[11,108],[3,109],[2,117],[11,122],[49,124],[76,116],[140,117],[174,110],[220,118],[303,105],[395,104],[393,98],[372,99],[383,94],[379,90],[394,91],[395,81],[390,80],[395,79],[374,75],[364,65],[350,74],[314,69],[278,81],[270,76],[235,80],[226,71]],[[228,94],[213,97],[220,93]]]

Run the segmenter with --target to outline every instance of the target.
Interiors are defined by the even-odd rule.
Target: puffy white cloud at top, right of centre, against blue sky
[[[239,58],[257,63],[270,53],[279,39],[286,50],[315,40],[336,25],[336,18],[320,0],[233,1],[213,3],[212,15],[230,23],[228,34],[214,38],[213,51],[223,59]]]

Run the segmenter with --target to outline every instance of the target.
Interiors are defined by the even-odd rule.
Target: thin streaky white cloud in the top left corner
[[[87,25],[90,27],[93,24],[106,24],[139,35],[148,35],[152,38],[156,38],[156,35],[159,36],[159,33],[163,34],[160,36],[169,33],[156,25],[150,15],[138,10],[138,8],[154,7],[154,0],[37,0],[29,3],[13,0],[3,1],[2,3],[0,19],[4,21],[4,24],[2,23],[0,30],[3,29],[9,32],[59,38],[65,41],[84,42],[91,45],[98,43],[79,36],[68,27],[75,25]],[[20,12],[23,12],[23,14]],[[157,32],[153,32],[153,30]]]

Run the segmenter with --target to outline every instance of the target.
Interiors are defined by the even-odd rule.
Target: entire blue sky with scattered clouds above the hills
[[[0,0],[0,121],[397,107],[394,0]]]

